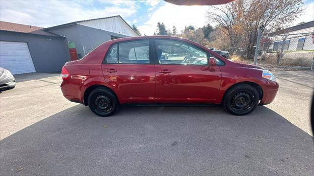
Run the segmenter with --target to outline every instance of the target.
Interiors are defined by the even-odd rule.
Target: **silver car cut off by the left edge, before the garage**
[[[12,73],[0,67],[0,93],[5,90],[15,88],[15,79]]]

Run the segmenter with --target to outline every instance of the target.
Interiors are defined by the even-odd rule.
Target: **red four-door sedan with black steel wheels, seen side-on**
[[[100,116],[122,104],[222,105],[245,115],[271,103],[278,83],[259,66],[225,59],[192,41],[169,36],[116,39],[62,68],[65,98]]]

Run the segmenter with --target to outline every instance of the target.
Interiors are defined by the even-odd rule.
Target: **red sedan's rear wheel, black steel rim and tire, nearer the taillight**
[[[119,107],[114,93],[106,88],[96,88],[88,95],[88,107],[99,116],[110,116]]]

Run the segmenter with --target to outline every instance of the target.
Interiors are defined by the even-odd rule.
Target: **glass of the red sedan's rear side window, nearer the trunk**
[[[114,44],[105,59],[108,64],[149,64],[149,41]]]

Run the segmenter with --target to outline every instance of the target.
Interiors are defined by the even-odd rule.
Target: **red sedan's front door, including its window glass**
[[[154,45],[157,102],[212,103],[217,99],[220,67],[209,66],[207,51],[179,40],[156,39]]]

